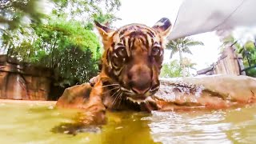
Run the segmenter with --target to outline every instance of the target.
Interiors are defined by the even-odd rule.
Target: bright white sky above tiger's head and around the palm
[[[174,25],[179,6],[182,4],[182,0],[122,0],[121,2],[122,6],[116,16],[122,20],[113,23],[116,27],[130,23],[154,26],[154,23],[163,17],[169,18]],[[221,42],[214,32],[197,34],[191,38],[204,43],[204,46],[191,47],[193,55],[185,55],[187,58],[191,58],[192,62],[197,63],[195,66],[197,70],[204,69],[217,61],[218,47],[221,46]],[[178,59],[178,54],[174,55],[174,58]],[[165,50],[164,62],[169,61],[170,50]]]

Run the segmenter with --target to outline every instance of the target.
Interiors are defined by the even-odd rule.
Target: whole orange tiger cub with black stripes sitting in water
[[[104,46],[101,72],[91,80],[93,86],[84,84],[83,88],[73,88],[72,94],[67,89],[63,95],[72,95],[74,106],[90,112],[88,123],[106,122],[106,109],[158,110],[153,96],[160,86],[158,76],[165,39],[170,34],[170,20],[161,18],[152,27],[134,23],[118,30],[98,22],[95,26]]]

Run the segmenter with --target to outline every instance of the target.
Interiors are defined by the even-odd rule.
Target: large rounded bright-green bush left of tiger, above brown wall
[[[58,19],[32,27],[35,38],[13,46],[10,55],[53,69],[60,86],[88,82],[97,74],[100,44],[97,36],[80,22]]]

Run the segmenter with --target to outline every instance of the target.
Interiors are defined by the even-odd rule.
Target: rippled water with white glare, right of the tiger
[[[155,111],[147,119],[154,142],[254,143],[256,118],[252,112],[246,109],[183,113]],[[241,120],[239,114],[243,116]]]

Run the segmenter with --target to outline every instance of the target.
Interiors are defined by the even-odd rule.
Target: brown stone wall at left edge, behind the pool
[[[0,55],[0,98],[47,100],[51,74],[50,69]]]

